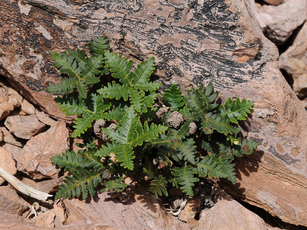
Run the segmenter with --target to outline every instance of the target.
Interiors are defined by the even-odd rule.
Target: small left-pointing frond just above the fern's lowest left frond
[[[85,160],[82,157],[82,150],[77,151],[68,151],[66,150],[65,153],[63,152],[62,155],[55,155],[51,157],[51,163],[53,165],[59,165],[61,168],[64,167],[72,167],[76,168],[77,165],[83,165]]]

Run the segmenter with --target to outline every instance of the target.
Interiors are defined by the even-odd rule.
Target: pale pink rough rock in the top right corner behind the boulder
[[[267,25],[267,37],[276,45],[282,45],[293,31],[305,22],[307,2],[284,0],[278,6],[264,5],[258,12]]]

